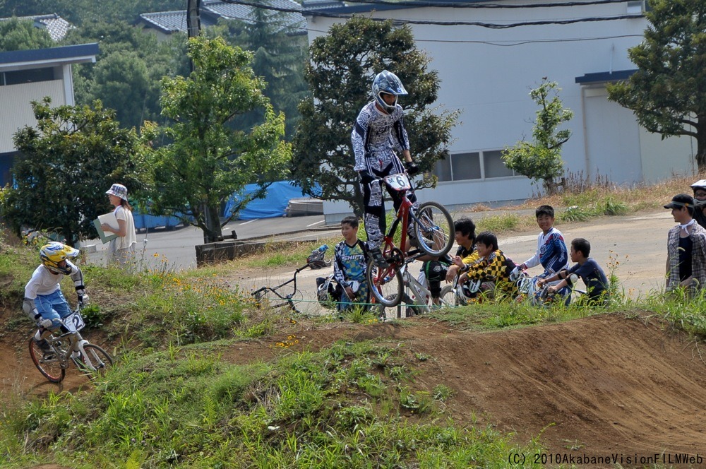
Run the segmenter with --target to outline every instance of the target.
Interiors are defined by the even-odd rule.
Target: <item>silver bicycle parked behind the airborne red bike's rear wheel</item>
[[[434,308],[453,306],[453,302],[450,302],[450,297],[443,297],[443,290],[439,303],[434,304],[428,283],[419,281],[419,278],[415,278],[409,271],[409,263],[415,261],[419,256],[420,254],[415,254],[407,257],[400,268],[402,283],[405,287],[400,304],[394,307],[386,307],[385,304],[376,305],[375,311],[378,314],[378,318],[382,321],[394,319],[395,317],[401,319],[403,317],[416,316],[417,314],[428,313]]]

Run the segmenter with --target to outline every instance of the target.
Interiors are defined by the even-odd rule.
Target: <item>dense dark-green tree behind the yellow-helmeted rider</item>
[[[152,129],[143,129],[141,138],[121,129],[100,101],[92,107],[50,104],[48,97],[32,102],[37,126],[15,133],[20,156],[1,212],[18,233],[23,225],[52,230],[73,244],[97,237],[92,220],[109,210],[105,191],[110,184],[140,191],[149,151],[143,142]]]

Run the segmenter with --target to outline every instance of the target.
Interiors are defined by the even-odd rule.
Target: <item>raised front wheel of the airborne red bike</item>
[[[438,202],[424,202],[417,210],[419,222],[414,223],[414,235],[419,250],[429,256],[441,257],[450,251],[454,239],[453,218]]]

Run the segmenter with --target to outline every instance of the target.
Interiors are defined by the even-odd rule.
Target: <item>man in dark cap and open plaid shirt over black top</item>
[[[688,194],[677,194],[664,208],[671,208],[678,223],[667,237],[666,291],[684,287],[693,296],[706,283],[706,229],[694,220]]]

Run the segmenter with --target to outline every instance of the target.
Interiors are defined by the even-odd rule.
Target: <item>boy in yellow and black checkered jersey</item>
[[[489,231],[479,233],[476,247],[478,259],[473,263],[454,261],[461,273],[459,283],[481,280],[481,290],[486,293],[509,298],[519,295],[517,286],[510,281],[515,263],[498,248],[498,237]]]

